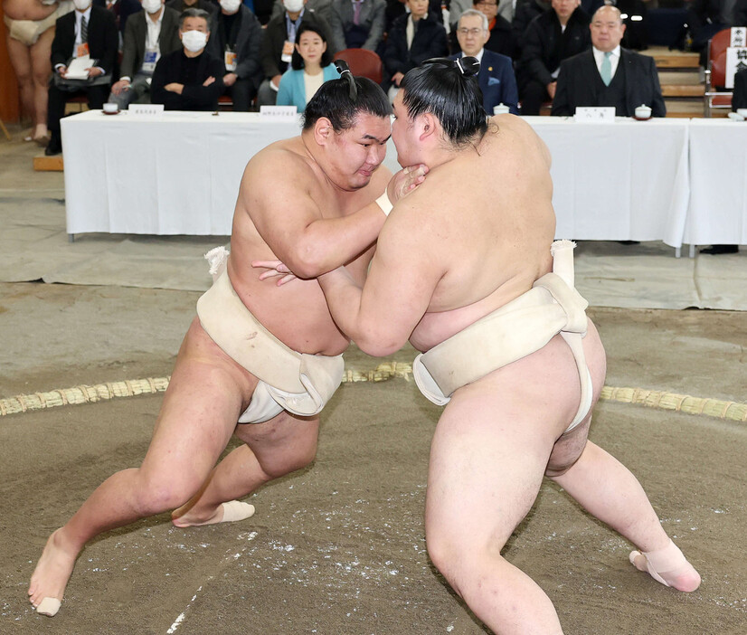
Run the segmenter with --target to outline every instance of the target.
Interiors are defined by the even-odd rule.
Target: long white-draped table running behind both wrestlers
[[[526,120],[553,156],[558,237],[682,244],[686,120]],[[232,112],[90,110],[61,125],[69,234],[228,235],[244,166],[300,129],[298,121]],[[391,142],[384,163],[398,169]]]

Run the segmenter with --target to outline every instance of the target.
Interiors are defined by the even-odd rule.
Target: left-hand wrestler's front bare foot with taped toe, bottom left
[[[65,544],[61,529],[49,537],[29,585],[29,601],[38,612],[52,617],[60,609],[77,557],[78,551]]]

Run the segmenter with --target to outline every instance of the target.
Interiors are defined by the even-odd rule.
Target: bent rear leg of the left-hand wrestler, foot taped
[[[240,424],[236,448],[213,469],[203,488],[171,515],[175,526],[221,522],[225,501],[245,497],[269,480],[305,468],[317,456],[318,418],[288,412],[264,423]]]

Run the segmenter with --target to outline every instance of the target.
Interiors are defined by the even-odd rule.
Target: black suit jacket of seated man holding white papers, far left
[[[52,41],[52,68],[57,64],[67,65],[75,46],[75,11],[57,20]],[[114,14],[100,6],[90,7],[89,52],[96,65],[110,73],[117,59],[119,34]]]

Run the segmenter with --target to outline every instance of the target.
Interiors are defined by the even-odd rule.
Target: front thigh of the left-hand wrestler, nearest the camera
[[[255,386],[253,375],[225,355],[195,318],[177,355],[141,469],[147,476],[206,477]]]

